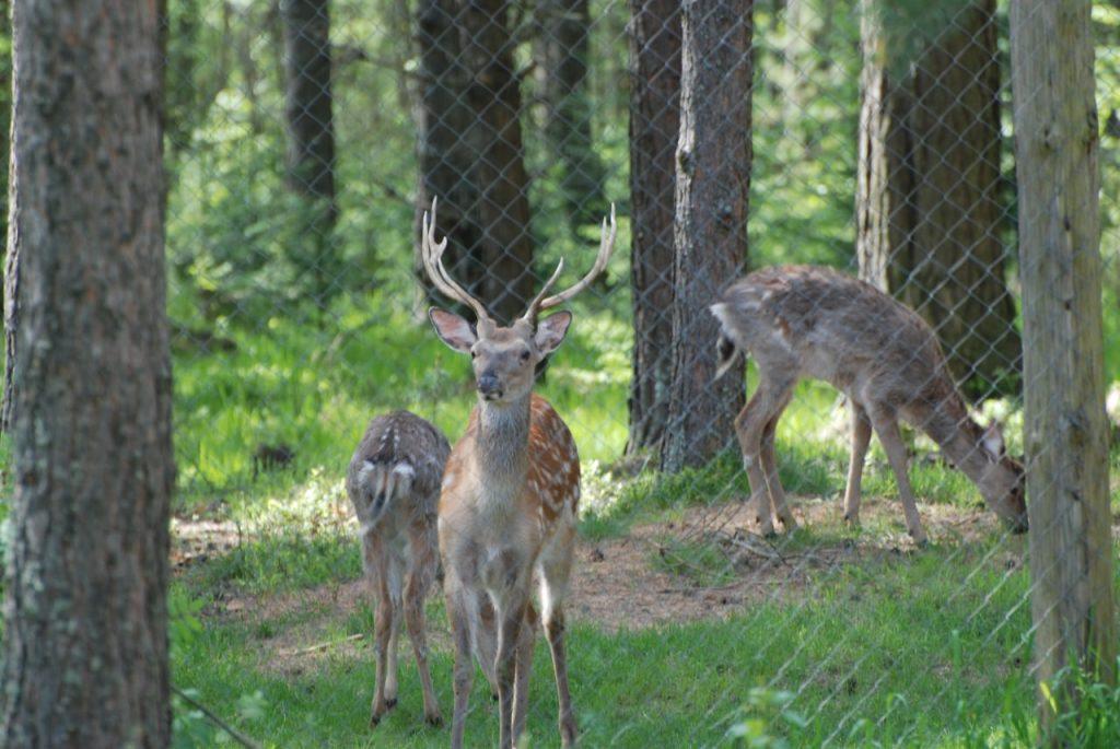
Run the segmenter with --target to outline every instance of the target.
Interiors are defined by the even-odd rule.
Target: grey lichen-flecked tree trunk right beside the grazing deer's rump
[[[662,467],[702,465],[734,440],[741,364],[717,382],[708,307],[747,259],[752,0],[682,4],[672,382]]]

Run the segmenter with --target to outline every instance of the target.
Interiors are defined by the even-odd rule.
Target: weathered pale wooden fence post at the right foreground
[[[1117,677],[1090,3],[1019,0],[1010,21],[1035,661],[1057,714],[1076,714],[1062,668]],[[1045,736],[1056,715],[1039,710]]]

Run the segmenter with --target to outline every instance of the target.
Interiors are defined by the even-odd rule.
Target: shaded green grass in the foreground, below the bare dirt
[[[995,728],[1008,703],[1032,700],[1023,667],[1029,653],[1026,573],[986,559],[998,551],[995,543],[824,571],[812,596],[776,597],[726,621],[617,634],[576,624],[569,652],[582,742],[717,745],[741,718],[750,691],[766,686],[795,695],[791,709],[804,725],[773,727],[792,746],[816,745],[833,732],[842,746],[959,746],[969,725]],[[438,603],[431,617],[441,621]],[[410,658],[402,658],[401,704],[373,733],[366,728],[368,648],[357,658],[328,654],[296,676],[269,671],[268,643],[299,621],[287,615],[209,622],[177,649],[175,681],[216,705],[236,705],[242,695],[260,692],[262,714],[240,725],[269,746],[446,743],[445,731],[422,725]],[[330,622],[323,639],[371,626],[368,611],[358,609]],[[556,702],[543,645],[535,664],[530,732],[552,746]],[[433,677],[446,713],[450,667],[450,655],[436,648]],[[969,706],[968,724],[961,704]],[[472,706],[468,743],[493,745],[496,718],[480,677]]]

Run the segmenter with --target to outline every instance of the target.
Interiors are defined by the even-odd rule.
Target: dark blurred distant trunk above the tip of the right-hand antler
[[[560,189],[572,231],[598,223],[607,209],[603,162],[591,141],[588,4],[588,0],[542,0],[538,6],[547,130],[560,161]]]

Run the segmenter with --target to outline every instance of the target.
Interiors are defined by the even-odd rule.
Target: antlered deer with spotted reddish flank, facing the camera
[[[472,653],[498,697],[501,746],[508,749],[525,727],[529,672],[536,636],[531,601],[534,573],[560,703],[560,738],[576,741],[568,691],[563,599],[568,590],[579,456],[563,420],[533,394],[536,364],[563,340],[571,312],[538,321],[538,315],[568,301],[603,272],[615,241],[603,223],[599,254],[590,272],[567,291],[547,297],[563,261],[510,327],[498,326],[477,299],[451,280],[441,261],[447,238],[436,243],[436,200],[423,218],[422,255],[432,283],[470,307],[476,324],[432,308],[436,331],[452,349],[470,354],[478,405],[451,451],[439,498],[439,549],[455,639],[455,714],[451,746],[463,746]]]

